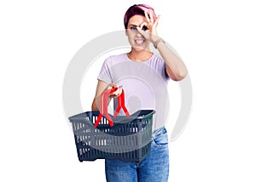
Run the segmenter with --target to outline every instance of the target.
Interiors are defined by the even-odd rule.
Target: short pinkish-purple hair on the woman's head
[[[127,29],[128,22],[132,16],[137,15],[137,14],[145,16],[144,11],[147,11],[148,13],[151,12],[154,20],[156,19],[156,15],[155,15],[154,9],[152,7],[148,6],[147,4],[134,4],[129,9],[127,9],[127,11],[125,13],[125,18],[124,18],[125,29]],[[148,16],[149,16],[149,14],[148,14]]]

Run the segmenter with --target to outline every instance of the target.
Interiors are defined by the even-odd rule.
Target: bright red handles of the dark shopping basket
[[[113,92],[115,92],[117,89],[118,88],[112,88],[112,89],[109,89],[109,90],[105,90],[102,93],[102,97],[101,97],[101,111],[100,111],[99,116],[97,117],[97,120],[96,120],[95,124],[94,124],[95,127],[97,127],[98,124],[101,122],[103,116],[105,116],[106,119],[108,120],[109,126],[113,127],[113,121],[112,121],[111,117],[108,114],[108,96],[110,94],[113,94]],[[125,107],[125,91],[124,91],[124,89],[123,89],[122,93],[118,97],[118,108],[115,111],[113,117],[117,117],[117,115],[118,115],[118,113],[119,113],[121,108],[123,108],[123,111],[125,111],[126,117],[130,117],[129,112],[127,111],[127,109]]]

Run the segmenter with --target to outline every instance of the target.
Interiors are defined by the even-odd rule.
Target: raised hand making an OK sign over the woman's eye
[[[156,27],[160,20],[160,15],[157,16],[154,20],[153,14],[149,11],[144,11],[147,22],[143,22],[140,26],[137,27],[137,30],[148,39],[151,43],[157,41],[160,37],[157,34]],[[149,16],[148,16],[149,14]]]

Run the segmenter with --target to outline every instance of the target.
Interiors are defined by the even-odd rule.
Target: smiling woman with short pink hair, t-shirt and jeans
[[[118,97],[123,88],[125,100],[128,98],[130,113],[138,109],[153,109],[157,117],[153,122],[153,139],[151,151],[142,162],[123,162],[106,159],[106,179],[110,182],[119,181],[160,181],[168,180],[169,151],[165,122],[160,114],[157,103],[166,100],[166,83],[171,78],[180,81],[187,75],[186,66],[157,34],[156,27],[160,16],[154,9],[145,4],[135,4],[125,13],[125,34],[131,44],[131,51],[113,55],[105,60],[98,77],[96,96],[92,110],[100,109],[100,96],[105,89],[117,88],[109,96]],[[153,43],[160,55],[149,50]],[[120,87],[122,85],[122,87]],[[154,92],[156,90],[157,92]],[[153,91],[152,91],[153,90]],[[129,98],[133,98],[130,100]],[[136,103],[136,104],[134,104]],[[114,107],[115,107],[114,102]]]

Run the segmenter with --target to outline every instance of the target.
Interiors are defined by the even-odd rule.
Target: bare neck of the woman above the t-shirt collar
[[[145,60],[148,60],[149,58],[151,58],[152,55],[153,53],[151,53],[148,50],[137,51],[132,48],[131,48],[131,52],[127,53],[127,56],[130,60],[134,60],[137,62],[143,62]]]

